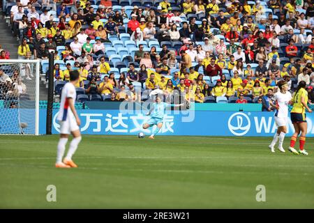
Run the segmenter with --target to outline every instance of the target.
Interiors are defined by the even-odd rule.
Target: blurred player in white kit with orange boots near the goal
[[[76,99],[75,84],[77,84],[79,80],[80,73],[77,70],[71,71],[70,82],[63,86],[61,93],[60,109],[57,116],[57,120],[60,123],[60,139],[57,149],[56,167],[59,168],[77,167],[77,164],[75,164],[72,160],[72,156],[82,139],[79,127],[81,121],[74,107]],[[73,135],[73,139],[70,143],[68,154],[62,162],[62,157],[66,151],[66,143],[68,142],[69,134]]]

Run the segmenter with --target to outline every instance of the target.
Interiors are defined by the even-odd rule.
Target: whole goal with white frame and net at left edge
[[[0,60],[0,134],[39,134],[38,60]]]

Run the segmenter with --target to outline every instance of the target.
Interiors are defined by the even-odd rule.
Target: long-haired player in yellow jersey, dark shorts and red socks
[[[304,144],[306,140],[306,130],[308,128],[308,124],[306,123],[306,109],[308,112],[312,112],[312,110],[308,107],[308,92],[306,91],[306,82],[301,81],[292,97],[292,110],[290,112],[290,117],[292,124],[294,126],[294,134],[291,137],[289,151],[294,154],[303,154],[308,155],[306,150],[304,149]],[[299,138],[299,153],[294,149],[295,142],[297,141],[297,137],[300,134]]]

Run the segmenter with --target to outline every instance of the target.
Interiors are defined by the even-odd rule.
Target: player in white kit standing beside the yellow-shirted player
[[[269,148],[271,149],[271,153],[274,153],[274,146],[279,139],[278,150],[285,153],[285,150],[283,149],[283,139],[285,139],[285,134],[287,133],[287,117],[289,112],[288,105],[290,104],[292,95],[289,91],[287,91],[287,82],[281,80],[277,85],[279,91],[277,91],[277,93],[275,93],[274,97],[272,98],[276,104],[274,105],[272,102],[270,102],[270,104],[276,109],[275,121],[278,129],[274,135],[273,141],[271,141],[271,144],[269,145]]]

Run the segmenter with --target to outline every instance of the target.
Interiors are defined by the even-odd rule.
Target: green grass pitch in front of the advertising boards
[[[306,157],[264,137],[83,136],[77,169],[54,168],[57,141],[0,137],[0,208],[314,208],[314,139]]]

